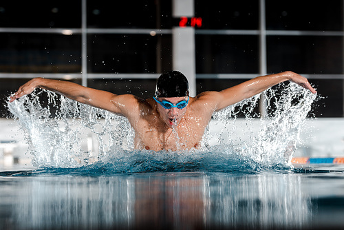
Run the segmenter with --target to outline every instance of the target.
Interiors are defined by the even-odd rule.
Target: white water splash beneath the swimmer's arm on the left
[[[40,101],[43,93],[47,93],[47,105]],[[8,103],[8,108],[25,134],[36,167],[80,167],[103,158],[114,147],[133,146],[133,132],[125,118],[53,92],[34,92]],[[87,149],[91,134],[98,143],[96,154]]]

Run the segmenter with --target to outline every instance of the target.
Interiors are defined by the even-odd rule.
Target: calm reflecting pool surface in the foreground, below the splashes
[[[100,174],[100,171],[107,171]],[[343,229],[344,169],[0,173],[1,229]]]

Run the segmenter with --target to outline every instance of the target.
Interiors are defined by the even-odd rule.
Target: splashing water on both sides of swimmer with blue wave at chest
[[[43,94],[47,94],[47,106],[41,103]],[[221,130],[214,134],[209,125],[201,149],[182,153],[134,150],[134,132],[126,118],[45,90],[8,103],[8,108],[25,132],[35,167],[75,168],[101,163],[121,172],[226,171],[239,165],[255,170],[291,167],[303,121],[316,95],[294,83],[281,83],[263,94],[268,111],[265,118],[255,112],[260,95],[248,98],[213,114],[212,124],[220,125]],[[244,127],[237,125],[239,113],[244,114]],[[253,122],[257,119],[259,123]],[[96,137],[98,151],[85,149],[90,134]]]

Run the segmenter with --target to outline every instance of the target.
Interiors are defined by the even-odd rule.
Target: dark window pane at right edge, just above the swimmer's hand
[[[268,36],[268,72],[343,73],[341,36]]]

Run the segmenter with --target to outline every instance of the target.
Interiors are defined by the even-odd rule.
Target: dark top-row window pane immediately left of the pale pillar
[[[88,1],[89,28],[171,28],[171,0]]]

